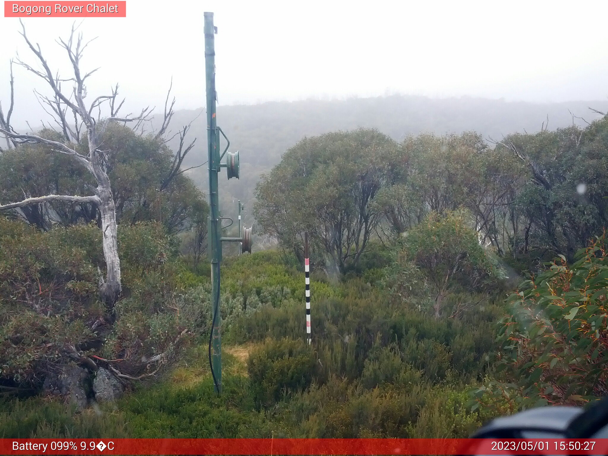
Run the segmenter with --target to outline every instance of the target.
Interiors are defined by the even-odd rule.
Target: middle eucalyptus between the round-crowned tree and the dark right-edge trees
[[[391,185],[383,188],[376,204],[384,214],[381,228],[389,236],[402,233],[429,213],[466,207],[469,223],[481,244],[504,250],[502,226],[513,202],[521,165],[509,153],[494,150],[477,133],[409,136],[391,162]]]

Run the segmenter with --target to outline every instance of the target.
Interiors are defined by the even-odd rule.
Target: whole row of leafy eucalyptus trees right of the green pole
[[[604,117],[494,147],[472,132],[400,144],[376,130],[306,138],[264,174],[255,216],[296,253],[307,230],[316,261],[340,272],[358,264],[370,239],[390,243],[429,213],[457,209],[498,255],[529,267],[560,252],[572,260],[607,223],[607,131]]]

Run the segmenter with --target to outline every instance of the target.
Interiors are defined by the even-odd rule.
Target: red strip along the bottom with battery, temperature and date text
[[[608,439],[104,438],[0,439],[34,455],[605,455]]]

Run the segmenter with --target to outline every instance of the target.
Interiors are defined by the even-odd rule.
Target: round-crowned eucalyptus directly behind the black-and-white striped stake
[[[381,218],[373,201],[389,184],[395,151],[396,143],[377,130],[300,140],[256,188],[261,230],[296,254],[308,231],[317,261],[339,272],[356,266]]]

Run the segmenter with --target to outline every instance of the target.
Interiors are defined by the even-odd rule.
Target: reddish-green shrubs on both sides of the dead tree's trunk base
[[[123,359],[120,370],[139,375],[142,359],[172,361],[196,333],[198,303],[178,294],[174,238],[159,224],[119,226],[123,296],[112,314],[98,299],[100,237],[92,225],[41,232],[0,217],[0,379],[40,385],[72,360],[71,347]]]

